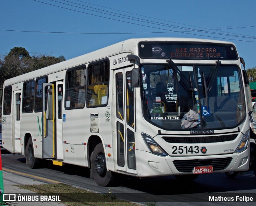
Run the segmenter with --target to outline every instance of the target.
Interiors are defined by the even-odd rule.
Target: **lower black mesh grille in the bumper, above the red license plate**
[[[174,160],[173,164],[179,172],[192,172],[196,166],[212,166],[213,171],[218,171],[227,168],[231,160],[232,157],[203,160]]]

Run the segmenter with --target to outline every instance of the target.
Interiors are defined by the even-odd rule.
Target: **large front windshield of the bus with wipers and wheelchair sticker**
[[[246,117],[235,65],[142,65],[144,118],[165,130],[226,129]]]

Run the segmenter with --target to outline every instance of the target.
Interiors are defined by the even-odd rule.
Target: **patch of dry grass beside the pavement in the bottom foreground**
[[[66,206],[83,206],[83,205],[122,205],[138,206],[131,202],[126,202],[116,198],[113,194],[98,194],[76,188],[68,184],[34,184],[34,185],[17,185],[20,188],[36,192],[37,194],[59,195],[60,200]]]

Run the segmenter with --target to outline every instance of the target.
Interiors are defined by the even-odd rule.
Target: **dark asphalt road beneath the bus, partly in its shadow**
[[[52,165],[50,161],[44,162],[42,168],[30,169],[26,165],[26,158],[19,154],[2,153],[3,170],[20,172],[20,175],[33,175],[41,178],[42,182],[51,183],[51,180],[71,184],[100,193],[115,194],[133,202],[182,202],[182,205],[191,205],[191,202],[208,202],[216,205],[217,202],[209,200],[209,196],[254,196],[254,202],[245,202],[246,205],[255,205],[256,178],[253,172],[244,172],[234,179],[228,178],[224,173],[202,174],[192,182],[181,182],[173,176],[155,178],[134,178],[121,176],[119,182],[112,187],[100,187],[90,179],[90,170],[81,166],[65,164]],[[42,180],[44,178],[44,180]],[[234,202],[222,202],[222,205],[234,205]],[[236,203],[235,203],[236,204]],[[240,204],[240,203],[237,203]],[[166,204],[167,205],[167,204]],[[180,204],[179,204],[180,205]]]

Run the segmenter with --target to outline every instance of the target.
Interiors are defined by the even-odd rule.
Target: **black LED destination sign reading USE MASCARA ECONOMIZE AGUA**
[[[141,42],[139,55],[149,59],[223,59],[236,60],[236,49],[230,44],[180,42]]]

